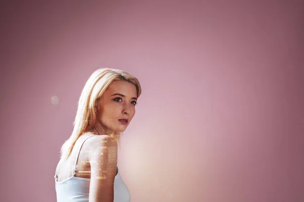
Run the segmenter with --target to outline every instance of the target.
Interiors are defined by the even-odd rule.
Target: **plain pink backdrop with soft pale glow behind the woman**
[[[0,201],[55,201],[99,67],[142,86],[119,151],[132,202],[304,201],[303,1],[8,2]]]

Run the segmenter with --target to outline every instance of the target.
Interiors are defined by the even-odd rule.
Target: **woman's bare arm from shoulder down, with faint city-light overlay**
[[[113,202],[117,168],[117,142],[108,135],[92,137],[90,202]]]

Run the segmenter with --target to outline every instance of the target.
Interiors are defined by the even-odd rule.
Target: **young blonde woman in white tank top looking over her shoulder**
[[[125,71],[103,68],[90,76],[72,134],[61,147],[54,176],[58,202],[130,201],[118,171],[117,151],[140,94],[139,81]]]

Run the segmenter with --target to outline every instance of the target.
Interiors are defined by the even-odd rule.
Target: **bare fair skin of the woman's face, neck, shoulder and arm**
[[[58,181],[71,176],[71,167],[81,142],[92,134],[99,134],[87,139],[81,147],[75,176],[90,179],[89,201],[113,201],[118,145],[109,135],[112,131],[126,130],[135,115],[136,95],[136,87],[127,81],[113,81],[107,87],[97,100],[97,121],[94,127],[79,137],[70,157],[64,165],[58,167]],[[128,119],[127,124],[119,121],[123,118]]]

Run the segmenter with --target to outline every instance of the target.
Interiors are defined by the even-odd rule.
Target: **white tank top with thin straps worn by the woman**
[[[71,177],[58,182],[57,181],[58,165],[57,165],[54,176],[57,202],[88,202],[89,201],[90,179],[76,177],[75,174],[77,171],[75,168],[77,165],[77,160],[83,143],[92,136],[94,135],[87,137],[82,142],[74,166],[72,168]],[[130,198],[131,198],[130,192],[118,172],[114,180],[114,202],[130,202]]]

